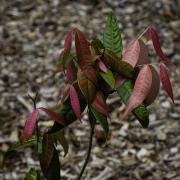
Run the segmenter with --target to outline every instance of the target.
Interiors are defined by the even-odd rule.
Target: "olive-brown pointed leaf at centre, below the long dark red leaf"
[[[91,104],[96,96],[96,87],[82,71],[78,71],[78,85],[86,101]]]

